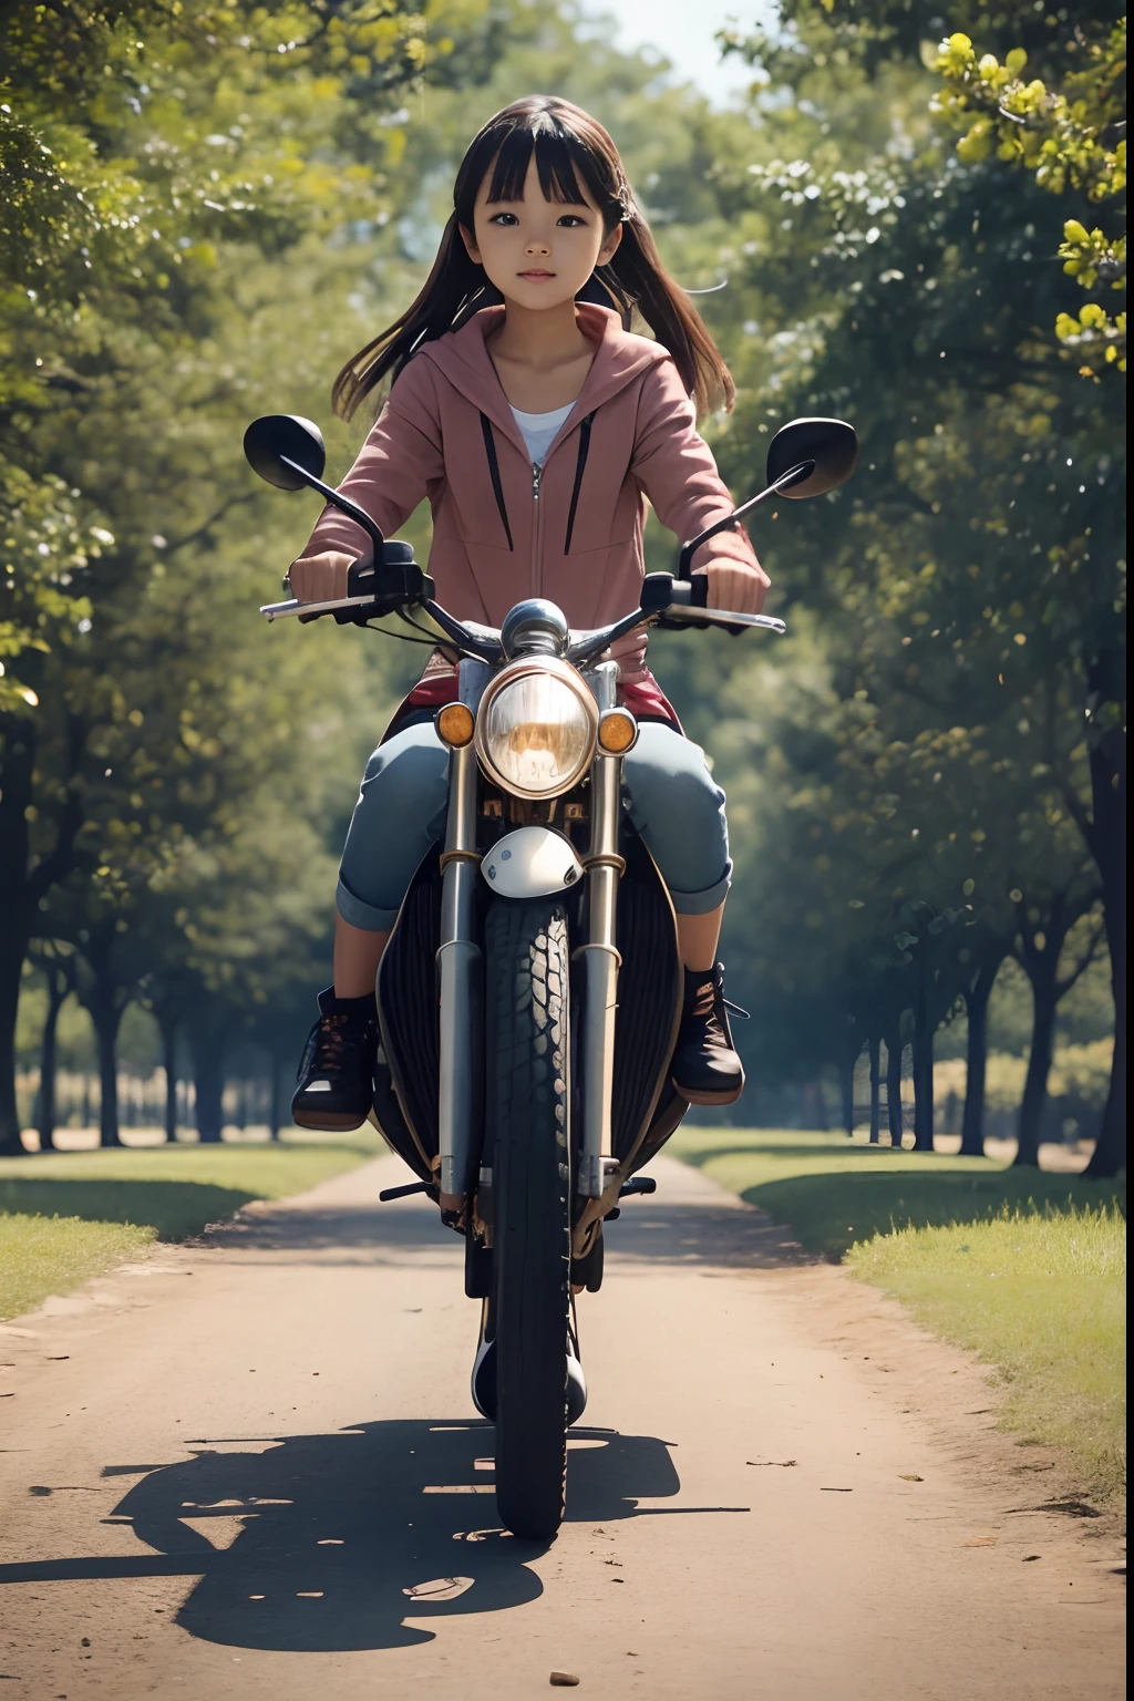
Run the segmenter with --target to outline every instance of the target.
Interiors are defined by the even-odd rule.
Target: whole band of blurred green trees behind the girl
[[[949,1123],[981,1150],[1012,1106],[1020,1162],[1068,1121],[1112,1172],[1124,41],[1105,5],[784,0],[723,39],[751,87],[712,109],[571,3],[14,0],[0,1146],[49,1126],[48,1041],[100,1072],[104,1140],[122,1060],[165,1063],[150,1121],[184,1119],[185,1073],[202,1138],[240,1080],[279,1123],[357,772],[420,658],[262,628],[313,512],[257,488],[240,434],[328,422],[468,138],[544,88],[614,131],[680,282],[728,281],[699,304],[738,381],[709,429],[738,497],[794,413],[860,434],[848,486],[758,527],[789,638],[655,641],[729,791],[738,1114],[899,1136],[904,1058],[916,1145]],[[364,425],[328,430],[332,473]],[[653,522],[648,548],[668,565]]]

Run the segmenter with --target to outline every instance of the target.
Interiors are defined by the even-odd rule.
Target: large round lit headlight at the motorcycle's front
[[[558,798],[587,772],[597,723],[597,704],[573,668],[522,663],[485,694],[476,743],[507,791]]]

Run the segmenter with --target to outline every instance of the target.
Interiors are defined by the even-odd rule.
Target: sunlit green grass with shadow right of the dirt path
[[[996,1369],[1001,1422],[1125,1485],[1125,1187],[842,1136],[678,1129],[670,1150]]]

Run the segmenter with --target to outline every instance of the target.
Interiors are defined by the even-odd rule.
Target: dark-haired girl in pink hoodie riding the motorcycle
[[[631,310],[656,342],[627,332]],[[614,141],[587,112],[529,95],[473,139],[454,213],[413,306],[347,362],[345,418],[386,374],[393,388],[342,490],[393,536],[423,497],[428,572],[457,617],[500,626],[546,595],[575,628],[638,607],[644,497],[680,538],[731,509],[697,412],[734,390],[721,356],[665,274]],[[369,541],[328,507],[291,568],[304,602],[347,595]],[[694,570],[709,606],[758,612],[768,580],[736,527]],[[677,912],[685,1005],[673,1080],[728,1104],[745,1077],[716,961],[733,864],[724,793],[644,665],[646,636],[615,646],[621,694],[641,725],[626,806]],[[442,651],[371,757],[338,879],[335,985],[320,995],[292,1116],[357,1128],[371,1109],[374,980],[415,868],[444,837],[447,752],[432,709],[456,696]]]

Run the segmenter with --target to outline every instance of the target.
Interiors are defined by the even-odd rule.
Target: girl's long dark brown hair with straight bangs
[[[524,199],[532,151],[547,201],[581,202],[581,177],[607,233],[615,225],[622,226],[612,260],[595,267],[576,299],[615,308],[626,327],[638,308],[661,347],[673,356],[697,412],[721,403],[733,407],[736,388],[729,369],[685,291],[666,274],[614,141],[597,119],[570,100],[525,95],[496,112],[469,143],[452,191],[454,209],[422,293],[381,337],[347,361],[335,379],[332,401],[342,418],[350,418],[388,373],[396,378],[423,342],[444,337],[479,308],[502,299],[485,269],[469,259],[461,226],[468,231],[474,228],[473,209],[490,167],[490,201]]]

